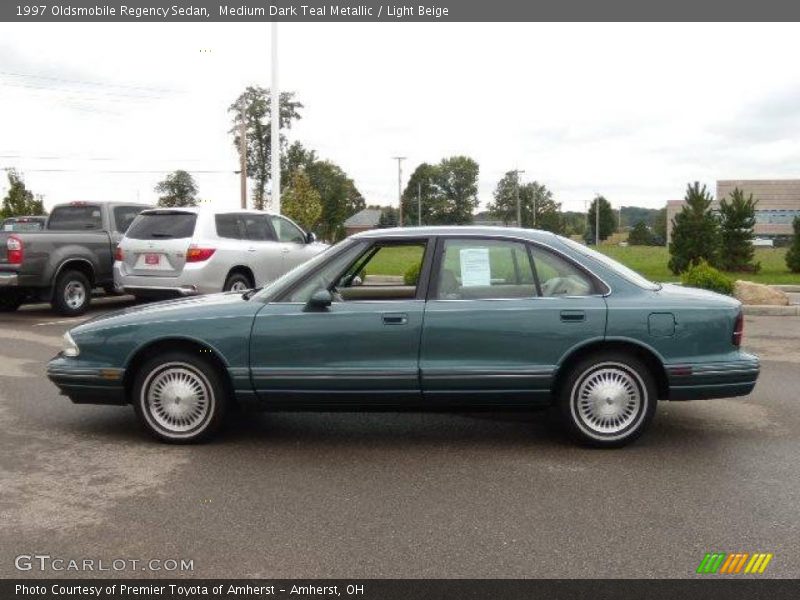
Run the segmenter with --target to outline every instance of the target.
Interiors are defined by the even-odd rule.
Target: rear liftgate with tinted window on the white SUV
[[[177,277],[186,264],[197,214],[179,209],[148,210],[140,214],[121,247],[131,275]]]

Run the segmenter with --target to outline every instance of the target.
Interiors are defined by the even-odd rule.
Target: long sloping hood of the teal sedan
[[[82,333],[90,330],[113,327],[128,323],[146,323],[148,321],[173,320],[176,317],[191,319],[192,315],[219,312],[220,316],[228,313],[252,312],[255,314],[264,305],[261,302],[244,300],[241,292],[223,292],[205,296],[192,296],[177,300],[153,302],[141,306],[131,306],[122,310],[99,315],[81,323],[71,331]]]

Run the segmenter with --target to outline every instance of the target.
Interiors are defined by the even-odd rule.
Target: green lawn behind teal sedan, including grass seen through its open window
[[[667,268],[669,252],[664,246],[600,245],[600,251],[638,271],[652,281],[678,281]],[[758,273],[728,273],[732,279],[746,279],[758,283],[784,283],[800,285],[800,273],[786,268],[786,248],[756,248],[756,262],[761,263]],[[367,267],[372,275],[403,275],[405,267],[421,260],[420,247],[406,246],[382,251]]]

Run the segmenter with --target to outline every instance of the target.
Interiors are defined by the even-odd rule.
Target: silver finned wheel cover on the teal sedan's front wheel
[[[167,363],[155,369],[142,386],[145,414],[167,435],[188,434],[208,423],[214,391],[208,379],[186,363]]]

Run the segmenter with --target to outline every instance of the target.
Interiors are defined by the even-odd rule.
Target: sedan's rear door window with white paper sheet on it
[[[435,298],[488,300],[534,296],[536,279],[525,244],[502,240],[445,240]]]

